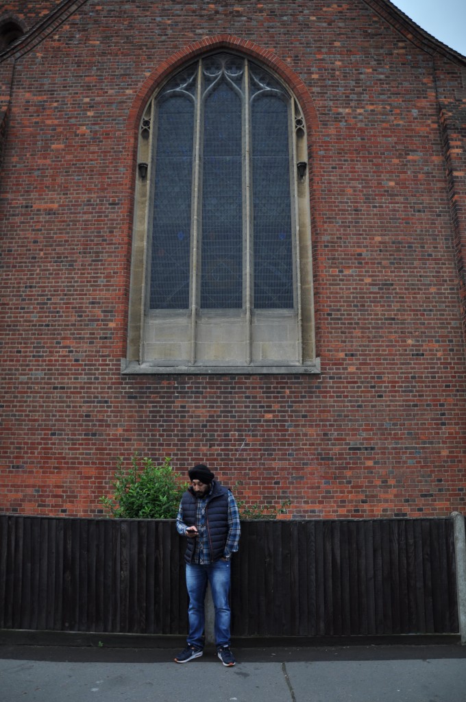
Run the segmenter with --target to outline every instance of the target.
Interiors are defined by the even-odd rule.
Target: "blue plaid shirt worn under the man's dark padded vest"
[[[196,503],[196,526],[199,536],[195,537],[194,554],[192,557],[193,563],[207,564],[211,563],[211,545],[208,539],[208,530],[206,527],[206,507],[208,498],[213,490],[213,483],[208,494],[203,498],[197,498]],[[239,524],[239,511],[237,503],[233,497],[231,491],[228,491],[228,534],[227,541],[225,542],[225,549],[223,550],[223,557],[229,558],[232,553],[238,550],[239,546],[239,536],[241,534],[241,527]],[[180,509],[178,510],[178,516],[176,517],[176,529],[178,534],[181,536],[186,535],[187,524],[183,521],[183,510],[180,503]],[[187,537],[190,538],[190,537]]]

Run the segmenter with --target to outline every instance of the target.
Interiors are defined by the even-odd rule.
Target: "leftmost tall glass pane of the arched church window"
[[[159,102],[150,307],[189,307],[194,101],[176,91]]]

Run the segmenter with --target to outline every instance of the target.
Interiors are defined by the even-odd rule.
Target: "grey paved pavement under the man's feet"
[[[1,702],[466,702],[466,646],[179,649],[0,645]]]

